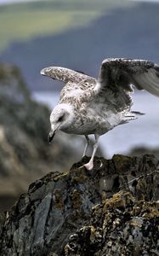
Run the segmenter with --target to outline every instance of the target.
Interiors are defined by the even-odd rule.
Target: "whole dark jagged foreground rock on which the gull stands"
[[[1,215],[0,255],[157,255],[158,160],[114,155],[79,168],[87,161],[32,183]]]

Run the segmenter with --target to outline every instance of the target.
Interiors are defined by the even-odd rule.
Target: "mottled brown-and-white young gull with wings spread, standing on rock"
[[[84,156],[89,135],[94,134],[93,153],[84,165],[88,170],[94,169],[99,137],[142,114],[131,111],[133,87],[159,96],[159,65],[147,60],[106,58],[99,67],[97,79],[66,67],[45,67],[41,74],[65,83],[50,115],[48,142],[53,141],[59,130],[83,135]]]

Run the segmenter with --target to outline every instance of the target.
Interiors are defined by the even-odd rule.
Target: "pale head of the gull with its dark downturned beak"
[[[54,135],[58,130],[65,131],[69,129],[73,119],[73,108],[70,105],[57,105],[50,115],[51,131],[48,134],[48,143],[53,141]]]

